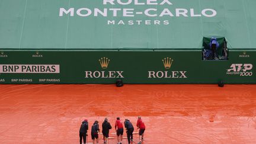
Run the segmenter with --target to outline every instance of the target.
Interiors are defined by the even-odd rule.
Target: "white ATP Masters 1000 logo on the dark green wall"
[[[240,76],[252,76],[252,64],[251,63],[233,63],[230,68],[227,69],[227,75],[240,75]]]

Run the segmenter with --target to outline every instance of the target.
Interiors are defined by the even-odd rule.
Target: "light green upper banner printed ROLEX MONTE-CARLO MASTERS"
[[[254,0],[0,0],[0,49],[255,49]]]

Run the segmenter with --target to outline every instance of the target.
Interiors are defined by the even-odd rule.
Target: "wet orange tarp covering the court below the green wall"
[[[79,143],[79,127],[137,116],[143,143],[256,143],[256,85],[0,85],[0,143]],[[100,135],[100,143],[103,143]],[[126,137],[126,133],[124,133]],[[134,142],[139,136],[134,135]],[[92,143],[88,135],[88,143]],[[123,139],[127,143],[127,139]]]

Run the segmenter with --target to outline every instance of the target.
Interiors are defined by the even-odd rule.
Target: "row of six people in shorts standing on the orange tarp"
[[[84,143],[86,143],[88,125],[89,124],[87,119],[82,121],[80,130],[79,130],[80,144],[82,144],[82,140],[84,140]],[[138,144],[141,144],[146,127],[140,116],[137,119],[136,126],[137,126],[137,129],[139,129]],[[131,142],[133,142],[133,131],[134,131],[133,124],[130,122],[130,120],[125,119],[124,127],[123,127],[123,123],[121,123],[120,117],[117,117],[116,123],[115,123],[115,130],[116,130],[117,142],[118,142],[117,144],[121,144],[121,142],[123,141],[124,128],[126,129],[128,143],[130,144]],[[108,144],[110,129],[112,129],[111,124],[108,122],[108,119],[105,118],[102,124],[102,134],[103,134],[103,140],[105,144]],[[91,138],[94,144],[99,143],[99,139],[98,139],[99,132],[100,132],[100,126],[98,124],[98,121],[95,120],[94,124],[92,124],[92,127],[91,127]]]

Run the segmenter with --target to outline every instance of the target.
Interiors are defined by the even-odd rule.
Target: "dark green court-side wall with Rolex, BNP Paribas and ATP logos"
[[[202,60],[200,51],[4,51],[1,84],[255,84],[256,53]]]

